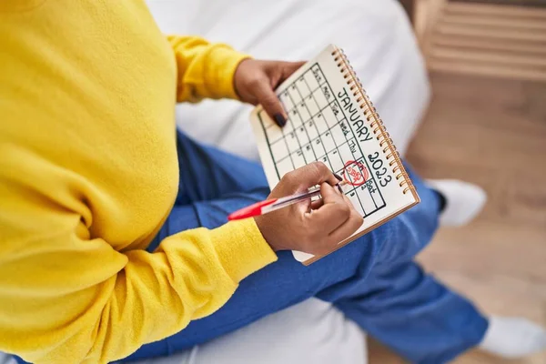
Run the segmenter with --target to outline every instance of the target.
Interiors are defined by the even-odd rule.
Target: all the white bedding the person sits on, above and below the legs
[[[401,154],[428,104],[423,62],[395,0],[148,0],[148,5],[165,33],[204,35],[255,57],[305,60],[328,43],[345,48]],[[200,141],[258,160],[249,111],[250,106],[225,100],[180,105],[177,124]],[[359,328],[314,298],[200,348],[143,363],[307,362],[366,362]]]

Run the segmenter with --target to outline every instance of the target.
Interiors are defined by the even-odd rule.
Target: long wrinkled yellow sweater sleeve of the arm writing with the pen
[[[120,252],[30,187],[0,180],[0,198],[0,349],[37,364],[125,358],[210,315],[277,258],[253,219]]]

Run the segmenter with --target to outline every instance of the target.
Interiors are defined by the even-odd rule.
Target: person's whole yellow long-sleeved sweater
[[[220,308],[276,259],[252,219],[150,240],[177,195],[176,101],[243,58],[143,1],[0,1],[0,349],[105,363]]]

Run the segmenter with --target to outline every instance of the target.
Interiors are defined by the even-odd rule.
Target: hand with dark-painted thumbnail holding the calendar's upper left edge
[[[235,91],[241,101],[252,105],[261,104],[278,126],[285,126],[288,116],[274,90],[304,64],[245,59],[235,71]]]

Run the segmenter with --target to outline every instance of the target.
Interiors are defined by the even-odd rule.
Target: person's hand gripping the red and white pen
[[[335,186],[339,179],[323,163],[314,162],[286,174],[269,198],[286,197],[320,185],[322,199],[301,202],[254,217],[273,250],[298,250],[326,254],[349,238],[363,219],[349,198]]]

